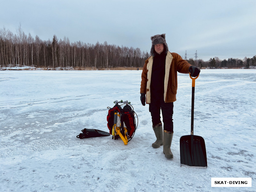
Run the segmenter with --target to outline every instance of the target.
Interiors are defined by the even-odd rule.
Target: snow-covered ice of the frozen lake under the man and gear
[[[141,71],[1,71],[0,191],[256,191],[256,70],[207,69],[196,79],[194,134],[204,138],[207,169],[180,167],[180,137],[190,134],[191,83],[178,74],[174,158],[155,141]],[[78,139],[108,131],[107,107],[131,101],[133,139]],[[251,177],[252,187],[211,187],[212,177]]]

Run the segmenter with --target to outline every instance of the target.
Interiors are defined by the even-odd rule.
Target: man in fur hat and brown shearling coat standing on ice
[[[200,69],[183,60],[179,54],[171,53],[165,41],[165,34],[151,37],[151,56],[145,61],[140,85],[140,100],[143,106],[149,104],[156,141],[153,148],[163,146],[166,158],[173,158],[171,151],[173,136],[173,102],[176,101],[177,71],[196,77]],[[160,120],[162,110],[164,132]]]

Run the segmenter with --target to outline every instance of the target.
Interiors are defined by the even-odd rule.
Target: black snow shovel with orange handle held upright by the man
[[[204,138],[194,135],[194,99],[197,77],[190,76],[192,79],[191,135],[180,137],[180,166],[207,168]]]

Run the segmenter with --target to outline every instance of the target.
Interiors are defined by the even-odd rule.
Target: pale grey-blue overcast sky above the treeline
[[[256,0],[1,0],[0,28],[42,40],[116,44],[150,52],[166,34],[170,52],[187,59],[256,55]]]

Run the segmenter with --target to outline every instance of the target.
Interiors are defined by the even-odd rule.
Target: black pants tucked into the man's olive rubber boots
[[[162,110],[164,130],[173,132],[173,102],[165,103],[164,100],[154,100],[149,104],[149,111],[152,116],[153,126],[161,123],[160,109]]]

